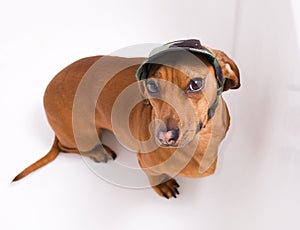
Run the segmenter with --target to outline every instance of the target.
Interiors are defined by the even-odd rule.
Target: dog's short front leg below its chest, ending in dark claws
[[[154,191],[167,199],[179,195],[178,188],[179,184],[175,179],[171,178],[166,174],[161,175],[148,175],[149,182],[154,189]]]

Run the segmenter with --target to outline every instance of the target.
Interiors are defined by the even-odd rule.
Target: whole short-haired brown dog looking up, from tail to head
[[[205,52],[166,52],[155,63],[146,63],[145,76],[138,76],[141,81],[135,74],[145,58],[95,56],[66,67],[50,82],[44,96],[47,118],[55,132],[54,144],[46,156],[13,181],[54,160],[59,152],[81,153],[96,162],[115,159],[117,155],[99,141],[104,129],[137,152],[140,166],[161,196],[179,194],[175,175],[203,177],[214,173],[218,145],[230,123],[218,90],[239,88],[240,78],[237,66],[223,52],[203,49],[211,52],[215,64]],[[216,62],[221,73],[217,73]],[[118,69],[121,71],[115,71]],[[221,87],[217,74],[224,76]],[[122,112],[114,112],[114,106],[123,98],[125,105],[121,103],[123,107],[117,106],[117,111],[126,110],[126,100],[132,96],[119,96],[131,85],[137,86],[133,95],[139,102],[128,115],[129,135],[123,125],[126,119]]]

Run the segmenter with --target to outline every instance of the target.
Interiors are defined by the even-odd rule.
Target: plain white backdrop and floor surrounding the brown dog
[[[0,229],[299,229],[296,1],[3,2]],[[108,184],[80,156],[61,154],[10,184],[52,144],[42,99],[58,71],[85,56],[182,38],[225,51],[241,70],[242,88],[225,95],[233,123],[215,175],[178,178],[181,195],[164,200]]]

